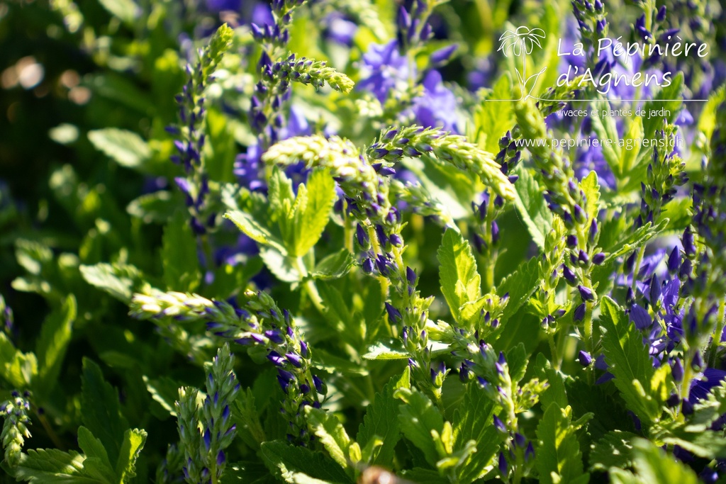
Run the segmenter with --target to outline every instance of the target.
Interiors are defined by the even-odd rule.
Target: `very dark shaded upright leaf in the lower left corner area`
[[[116,390],[103,379],[99,366],[88,358],[83,358],[81,375],[81,421],[101,440],[109,461],[116,462],[129,423],[121,414]]]

